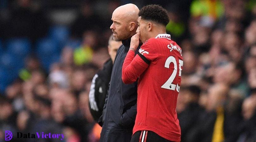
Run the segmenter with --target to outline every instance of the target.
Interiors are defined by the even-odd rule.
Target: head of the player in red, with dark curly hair
[[[167,10],[159,5],[146,5],[139,12],[137,20],[142,42],[157,36],[159,33],[166,33],[166,25],[169,23]]]

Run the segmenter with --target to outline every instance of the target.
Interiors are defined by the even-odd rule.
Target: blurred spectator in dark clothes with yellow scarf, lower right
[[[206,113],[198,119],[196,127],[187,138],[191,141],[227,141],[237,139],[236,124],[241,122],[239,115],[229,113],[226,107],[229,87],[214,84],[207,94]]]

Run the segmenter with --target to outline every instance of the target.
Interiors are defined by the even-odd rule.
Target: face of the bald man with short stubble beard
[[[114,11],[111,20],[113,23],[110,26],[110,29],[113,32],[113,39],[115,41],[121,41],[129,38],[129,24],[125,19],[125,15],[119,15]]]

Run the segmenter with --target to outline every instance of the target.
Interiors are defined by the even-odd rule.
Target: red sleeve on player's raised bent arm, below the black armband
[[[125,84],[135,82],[138,77],[148,68],[149,64],[145,62],[140,53],[134,57],[134,51],[129,50],[122,67],[122,80]]]

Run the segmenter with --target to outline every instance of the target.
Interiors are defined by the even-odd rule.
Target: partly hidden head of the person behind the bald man
[[[115,57],[116,57],[116,52],[117,52],[118,48],[121,46],[121,44],[122,44],[121,41],[115,41],[113,39],[113,35],[111,35],[109,37],[107,47],[108,47],[108,54],[110,55],[112,62],[114,62]]]

